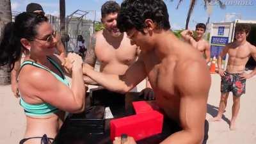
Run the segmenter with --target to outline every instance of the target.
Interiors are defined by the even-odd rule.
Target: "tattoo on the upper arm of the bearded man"
[[[95,62],[97,60],[96,54],[95,54],[95,44],[96,44],[96,38],[95,36],[92,36],[90,39],[88,50],[86,52],[86,56],[84,58],[84,62],[88,63],[92,67],[94,67]]]

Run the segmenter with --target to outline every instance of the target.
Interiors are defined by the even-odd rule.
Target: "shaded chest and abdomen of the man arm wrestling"
[[[180,94],[175,86],[175,62],[157,63],[154,59],[145,63],[148,79],[159,108],[173,120],[179,120]]]

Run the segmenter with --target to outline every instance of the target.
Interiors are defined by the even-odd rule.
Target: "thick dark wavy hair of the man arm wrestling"
[[[117,18],[121,32],[136,28],[143,33],[145,20],[151,19],[157,29],[170,29],[169,15],[163,0],[125,0]]]

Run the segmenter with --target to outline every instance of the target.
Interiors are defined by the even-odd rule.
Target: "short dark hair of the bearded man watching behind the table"
[[[109,13],[118,13],[120,6],[115,1],[107,1],[101,6],[101,17],[105,17]]]

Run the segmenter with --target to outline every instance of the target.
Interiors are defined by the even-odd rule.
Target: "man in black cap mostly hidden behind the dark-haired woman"
[[[32,12],[32,13],[38,13],[39,15],[44,15],[44,10],[40,4],[37,3],[29,3],[26,7],[26,12]],[[56,44],[56,49],[58,51],[58,54],[62,57],[65,58],[67,56],[64,45],[62,44],[60,40],[60,35],[56,35],[56,38],[58,39],[58,43]],[[25,58],[28,57],[28,52],[24,51]],[[18,61],[15,62],[15,65],[13,67],[13,70],[11,72],[11,84],[12,84],[12,92],[15,97],[19,97],[19,90],[17,86],[17,74],[20,69],[20,61],[21,61],[21,56]]]

